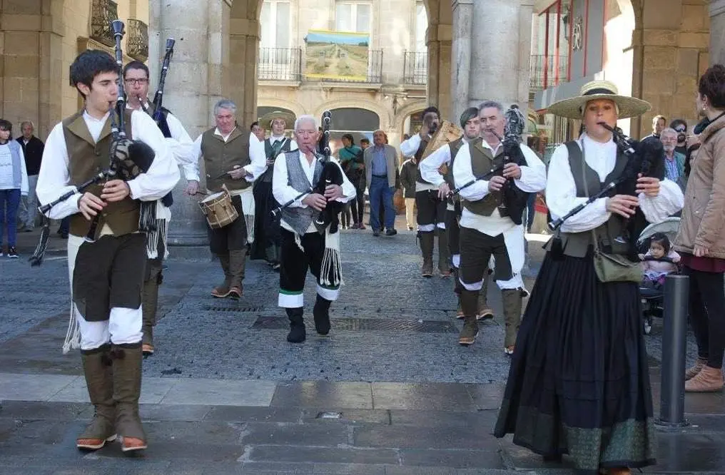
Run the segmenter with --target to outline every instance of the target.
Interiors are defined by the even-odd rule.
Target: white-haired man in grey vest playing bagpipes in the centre
[[[326,129],[323,143],[327,143]],[[337,213],[357,192],[337,161],[328,155],[329,147],[327,156],[316,153],[315,117],[297,118],[294,138],[299,150],[276,159],[272,192],[283,203],[278,302],[289,318],[287,341],[299,343],[306,337],[302,306],[307,269],[318,282],[312,311],[315,329],[320,335],[330,332],[330,304],[337,300],[342,283]]]

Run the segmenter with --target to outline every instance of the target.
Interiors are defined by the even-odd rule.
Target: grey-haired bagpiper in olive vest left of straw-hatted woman
[[[476,180],[502,164],[504,133],[503,106],[484,101],[479,107],[483,140],[461,146],[453,162],[453,178],[460,187]],[[531,148],[520,144],[526,166],[510,162],[503,176],[479,180],[460,190],[463,206],[460,217],[460,304],[465,318],[458,342],[472,345],[479,332],[476,311],[489,259],[494,256],[494,279],[500,287],[506,327],[505,352],[513,353],[516,332],[521,321],[521,302],[528,295],[523,286],[521,268],[524,261],[523,227],[515,224],[502,203],[501,188],[509,178],[524,192],[537,193],[546,185],[546,167]]]

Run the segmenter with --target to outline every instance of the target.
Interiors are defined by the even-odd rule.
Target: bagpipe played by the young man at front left
[[[118,70],[123,68],[123,51],[121,50],[121,40],[125,34],[125,25],[121,20],[114,20],[111,22],[111,28],[115,38],[115,59],[118,66]],[[109,104],[110,120],[111,120],[111,145],[109,148],[109,167],[97,175],[92,177],[90,180],[81,183],[76,186],[73,190],[68,191],[64,195],[57,198],[51,203],[39,206],[38,211],[43,216],[55,205],[66,201],[71,196],[75,196],[76,193],[85,193],[86,190],[94,185],[99,185],[101,182],[108,180],[123,180],[129,181],[133,178],[138,177],[141,173],[147,172],[151,167],[155,153],[154,150],[146,145],[146,143],[139,142],[138,140],[130,140],[126,138],[125,133],[125,95],[123,91],[123,81],[118,83],[118,98],[113,103]],[[116,119],[118,115],[118,119]],[[150,232],[156,229],[155,223],[156,216],[156,203],[155,201],[141,202],[141,211],[138,219],[138,230],[142,232]],[[88,232],[83,238],[87,243],[94,243],[98,234],[98,227],[101,219],[101,213],[98,212],[94,219],[91,221]],[[41,231],[40,242],[36,246],[36,250],[33,255],[30,256],[31,266],[39,266],[43,262],[43,256],[45,254],[48,239],[50,235],[50,220],[44,218],[43,230]]]

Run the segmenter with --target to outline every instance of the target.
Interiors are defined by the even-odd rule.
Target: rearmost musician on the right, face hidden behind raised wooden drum
[[[423,277],[433,277],[434,232],[438,228],[438,270],[441,277],[450,276],[450,256],[446,236],[446,201],[438,197],[436,185],[426,181],[421,175],[423,152],[438,129],[440,113],[434,106],[423,110],[423,125],[413,137],[400,144],[403,156],[415,156],[418,162],[418,176],[415,179],[415,206],[418,207],[418,238],[421,240],[423,254]]]

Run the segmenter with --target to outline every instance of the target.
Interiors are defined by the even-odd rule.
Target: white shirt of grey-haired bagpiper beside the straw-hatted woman
[[[496,148],[493,148],[486,140],[482,140],[481,146],[488,148],[496,156],[502,144],[499,143]],[[537,193],[543,190],[546,185],[546,166],[531,148],[523,145],[523,143],[520,147],[523,152],[523,157],[526,159],[526,165],[521,167],[521,177],[513,180],[513,182],[521,191]],[[471,144],[465,143],[458,151],[455,161],[453,161],[453,181],[456,187],[460,188],[472,180],[476,180],[476,177],[473,176],[473,168],[471,167]],[[488,194],[488,180],[476,181],[473,185],[460,190],[460,198],[468,201],[482,200]],[[468,211],[464,207],[460,217],[460,226],[468,227],[494,237],[503,232],[507,232],[516,225],[510,217],[502,217],[498,208],[494,209],[491,216],[481,216],[480,214]]]

